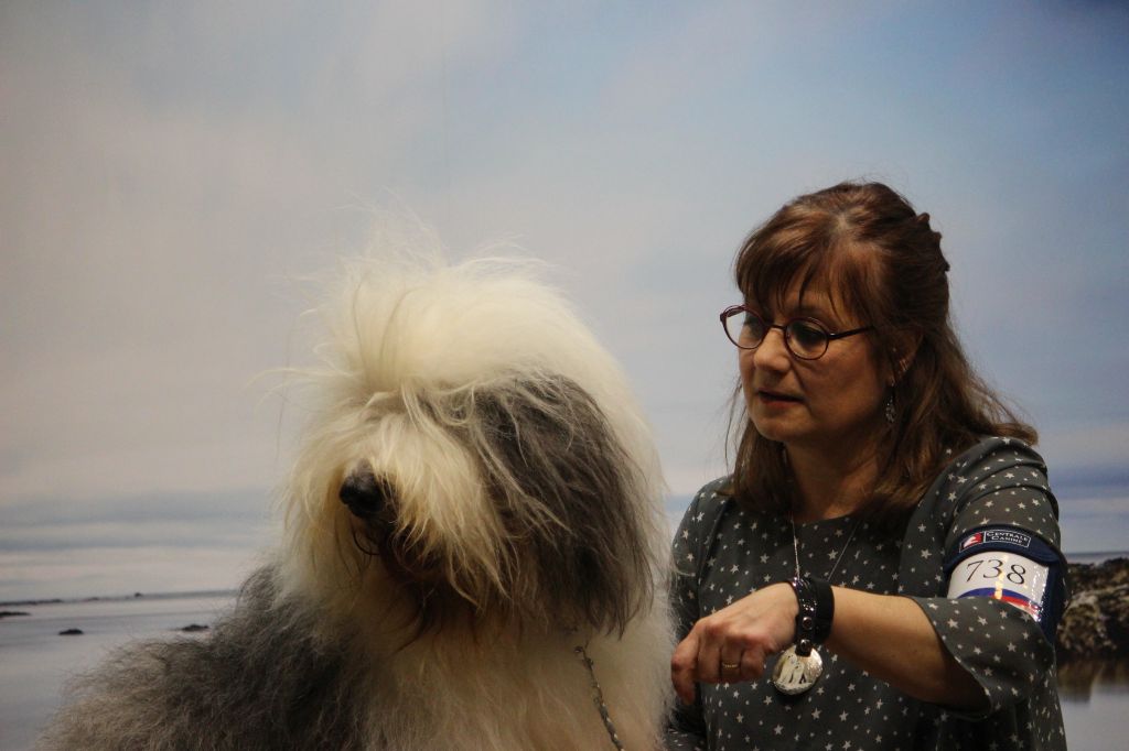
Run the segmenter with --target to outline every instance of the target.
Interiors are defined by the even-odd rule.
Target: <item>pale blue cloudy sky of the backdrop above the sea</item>
[[[1066,548],[1129,530],[1121,2],[0,6],[0,600],[234,586],[292,447],[296,277],[411,211],[509,239],[624,363],[669,509],[724,470],[743,236],[933,215]]]

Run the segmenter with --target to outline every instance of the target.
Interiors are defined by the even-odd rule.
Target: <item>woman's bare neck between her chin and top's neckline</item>
[[[796,523],[854,513],[874,487],[878,474],[873,450],[812,451],[788,447],[796,497]]]

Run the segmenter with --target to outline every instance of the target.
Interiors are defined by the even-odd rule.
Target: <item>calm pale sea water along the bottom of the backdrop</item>
[[[28,613],[0,619],[0,750],[29,749],[67,678],[114,647],[138,638],[205,638],[178,631],[213,624],[233,603],[231,593],[203,593],[0,607]],[[59,635],[69,628],[82,635]],[[1129,666],[1070,665],[1060,675],[1060,697],[1071,751],[1124,751]]]

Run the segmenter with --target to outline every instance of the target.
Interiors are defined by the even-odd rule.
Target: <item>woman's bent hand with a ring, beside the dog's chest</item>
[[[674,650],[671,680],[684,704],[694,682],[756,680],[764,661],[791,644],[799,606],[789,584],[772,584],[702,618]]]

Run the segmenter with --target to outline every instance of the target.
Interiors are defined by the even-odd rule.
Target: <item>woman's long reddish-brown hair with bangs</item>
[[[756,228],[737,254],[746,301],[779,302],[799,283],[824,283],[832,302],[858,316],[889,364],[894,421],[878,443],[878,474],[858,513],[904,519],[948,460],[981,436],[1034,443],[972,370],[948,311],[948,263],[929,214],[881,183],[840,183],[799,196]],[[782,447],[756,432],[735,395],[739,431],[733,492],[743,504],[786,513],[791,483]]]

